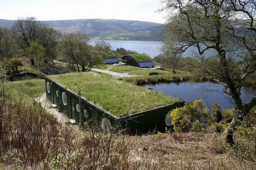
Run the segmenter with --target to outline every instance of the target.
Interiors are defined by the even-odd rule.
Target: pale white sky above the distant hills
[[[160,0],[0,0],[0,19],[123,19],[164,23]]]

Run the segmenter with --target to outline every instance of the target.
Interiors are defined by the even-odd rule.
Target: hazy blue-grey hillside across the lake
[[[0,26],[11,28],[14,22],[14,20],[0,19]],[[63,33],[87,33],[92,39],[162,40],[158,33],[162,24],[153,22],[116,19],[76,19],[42,22]]]

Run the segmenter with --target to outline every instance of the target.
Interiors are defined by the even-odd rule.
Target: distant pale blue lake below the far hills
[[[94,46],[100,40],[90,40],[89,44]],[[146,53],[150,57],[155,57],[160,53],[162,41],[125,41],[125,40],[104,40],[112,46],[112,50],[116,48],[125,48],[126,50],[136,51],[138,53]],[[198,54],[196,47],[189,47],[182,55],[184,57],[191,57]],[[207,52],[211,54],[210,50]]]

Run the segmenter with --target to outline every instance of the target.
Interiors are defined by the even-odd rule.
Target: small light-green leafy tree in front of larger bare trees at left
[[[30,61],[33,61],[32,65],[35,67],[39,66],[44,59],[44,48],[41,46],[37,40],[30,43],[30,47],[27,48],[27,55]]]

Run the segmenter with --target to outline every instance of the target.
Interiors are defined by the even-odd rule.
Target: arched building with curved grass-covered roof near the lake
[[[123,60],[127,61],[127,64],[134,67],[140,68],[153,68],[155,64],[146,54],[128,54],[122,57]]]

